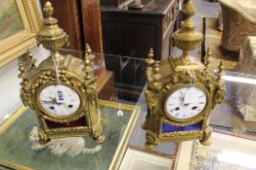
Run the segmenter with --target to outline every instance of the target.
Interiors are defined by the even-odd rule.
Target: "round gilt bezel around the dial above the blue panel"
[[[189,119],[177,119],[172,117],[171,115],[168,114],[167,110],[166,110],[166,104],[167,104],[167,99],[168,97],[174,93],[175,91],[177,91],[178,89],[181,88],[185,88],[185,87],[190,87],[190,86],[194,86],[196,88],[200,88],[206,96],[206,104],[204,109],[197,114],[196,116],[189,118]],[[209,107],[209,92],[206,90],[206,88],[204,87],[204,85],[199,85],[199,84],[195,84],[195,85],[188,85],[188,84],[178,84],[178,85],[173,85],[170,90],[165,94],[165,96],[163,97],[163,101],[164,101],[164,105],[163,105],[163,111],[164,111],[164,115],[168,118],[168,119],[172,119],[174,121],[178,121],[178,122],[187,122],[187,121],[191,121],[193,119],[199,119],[200,117],[202,117],[203,119],[203,115],[206,113],[206,111],[208,110]]]

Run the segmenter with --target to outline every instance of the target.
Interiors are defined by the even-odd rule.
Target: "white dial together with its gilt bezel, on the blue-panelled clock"
[[[194,88],[194,90],[192,89],[191,91],[197,91],[197,92],[199,91],[200,95],[195,97],[198,97],[201,101],[199,100],[199,102],[197,101],[196,103],[192,99],[191,99],[192,101],[188,101],[187,99],[187,101],[185,101],[184,103],[184,100],[186,100],[185,95],[186,93],[188,93],[188,90],[192,87]],[[170,99],[172,94],[175,94],[174,97],[176,97],[176,100],[179,100],[179,102],[170,103],[170,100],[168,99]],[[203,99],[203,95],[204,95],[204,99]],[[203,114],[206,113],[205,111],[209,108],[208,107],[209,93],[203,85],[197,85],[197,84],[192,86],[188,84],[173,85],[169,90],[169,92],[166,93],[163,101],[164,101],[163,111],[167,118],[177,122],[187,122],[195,119],[197,120],[203,119]],[[183,104],[181,105],[181,103]],[[168,107],[168,105],[170,104],[172,104],[173,106]]]

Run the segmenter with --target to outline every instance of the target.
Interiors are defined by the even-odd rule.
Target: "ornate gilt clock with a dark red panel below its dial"
[[[36,36],[38,44],[51,51],[51,55],[38,66],[29,51],[20,57],[21,100],[36,112],[41,143],[52,138],[85,135],[103,142],[94,55],[89,45],[84,59],[58,51],[68,43],[68,36],[52,17],[53,11],[52,4],[47,2],[44,26]]]

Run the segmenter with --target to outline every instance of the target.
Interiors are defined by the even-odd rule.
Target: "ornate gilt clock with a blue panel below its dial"
[[[142,127],[147,130],[146,147],[149,149],[162,142],[200,140],[202,145],[211,143],[209,115],[226,94],[221,79],[223,64],[220,63],[217,73],[210,68],[210,49],[205,65],[189,55],[202,38],[194,31],[194,13],[189,0],[184,8],[187,18],[173,35],[176,47],[183,51],[181,56],[155,62],[150,50],[146,59],[148,115]]]

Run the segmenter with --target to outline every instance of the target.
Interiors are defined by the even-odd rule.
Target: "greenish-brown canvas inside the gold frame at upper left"
[[[0,0],[0,40],[23,30],[15,0]]]

